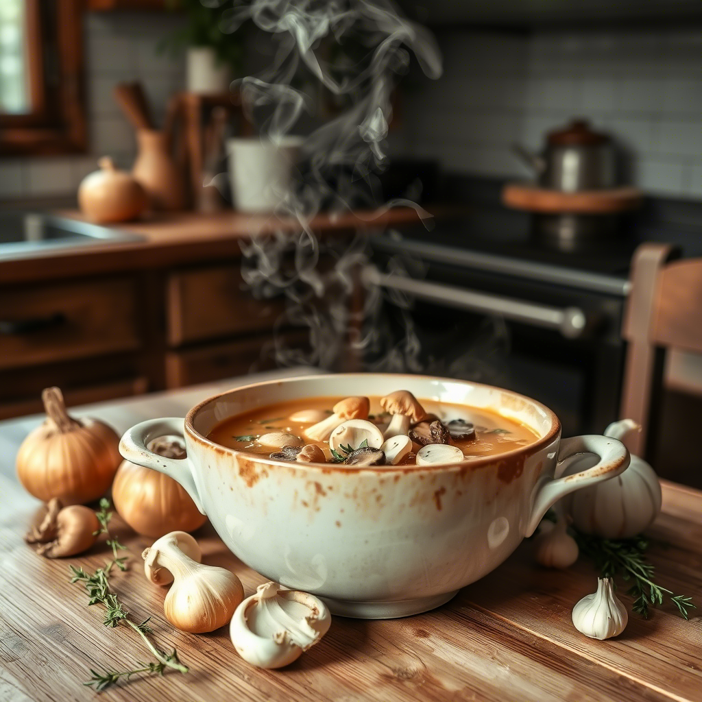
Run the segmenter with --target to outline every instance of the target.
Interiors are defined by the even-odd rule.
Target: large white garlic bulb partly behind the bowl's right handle
[[[604,435],[626,444],[626,437],[640,426],[624,419],[607,427]],[[585,456],[571,463],[564,475],[587,468],[585,462],[597,459]],[[630,538],[640,534],[661,511],[661,484],[653,468],[638,456],[618,477],[578,490],[565,498],[573,524],[583,534],[604,538]]]

